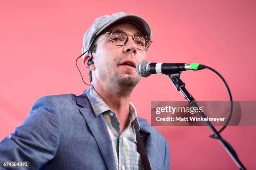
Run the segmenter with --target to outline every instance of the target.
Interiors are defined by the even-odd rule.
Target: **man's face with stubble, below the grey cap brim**
[[[132,36],[142,32],[129,23],[111,25],[105,32],[112,30],[123,30],[128,35],[128,41],[123,46],[117,46],[111,41],[109,34],[103,34],[98,38],[100,40],[104,36],[93,54],[95,70],[92,81],[113,87],[116,85],[134,87],[141,79],[136,73],[135,66],[141,60],[145,60],[147,54],[145,50],[137,49]],[[133,66],[125,64],[127,62],[133,63]]]

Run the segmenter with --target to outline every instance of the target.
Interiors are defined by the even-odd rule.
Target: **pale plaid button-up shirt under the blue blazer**
[[[133,120],[137,117],[136,109],[130,102],[129,125],[120,133],[120,122],[115,112],[110,110],[91,85],[87,90],[88,99],[92,105],[95,116],[103,114],[108,133],[112,140],[115,165],[117,170],[143,170],[141,156],[137,151],[136,133]],[[138,119],[134,122],[139,127]]]

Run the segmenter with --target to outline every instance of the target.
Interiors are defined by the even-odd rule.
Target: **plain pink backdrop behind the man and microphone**
[[[151,62],[208,65],[225,77],[234,100],[255,100],[255,0],[1,0],[0,140],[23,122],[39,97],[79,95],[87,88],[75,67],[84,32],[95,18],[120,11],[140,15],[151,25]],[[82,60],[78,63],[88,81]],[[197,100],[229,99],[223,82],[209,70],[184,72],[182,80]],[[138,115],[149,122],[151,100],[184,98],[168,77],[152,75],[132,95]],[[207,127],[156,128],[169,141],[172,169],[238,169],[218,140],[208,137]],[[222,133],[248,169],[256,169],[255,131],[255,126],[243,126]]]

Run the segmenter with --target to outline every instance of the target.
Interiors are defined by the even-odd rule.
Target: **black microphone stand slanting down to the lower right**
[[[185,97],[185,99],[189,102],[189,105],[196,107],[199,109],[198,105],[197,105],[197,101],[194,99],[194,97],[192,97],[192,95],[189,94],[189,92],[187,91],[187,89],[185,88],[185,83],[182,82],[182,80],[180,80],[180,72],[178,73],[174,73],[174,74],[169,74],[167,75],[171,80],[172,83],[174,85],[174,87],[180,91],[182,93],[182,95]],[[205,114],[203,112],[198,112],[199,115],[203,118],[207,118],[205,116]],[[224,140],[220,134],[218,133],[218,131],[215,129],[215,127],[212,125],[212,123],[210,121],[205,121],[205,123],[207,124],[207,126],[210,128],[210,130],[212,131],[212,133],[214,133],[214,137],[215,139],[218,139],[219,142],[221,143],[221,145],[225,148],[225,150],[228,152],[228,154],[230,155],[230,157],[234,160],[234,162],[236,163],[236,165],[238,166],[238,168],[240,170],[246,170],[246,168],[243,166],[243,164],[241,163],[241,161],[238,158],[238,155],[236,154],[236,151],[233,149],[233,147],[226,141]]]

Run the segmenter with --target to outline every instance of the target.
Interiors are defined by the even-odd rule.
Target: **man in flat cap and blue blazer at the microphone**
[[[135,66],[146,59],[150,38],[148,24],[136,15],[97,18],[83,45],[92,85],[80,96],[37,100],[23,124],[0,143],[0,163],[29,161],[29,169],[141,170],[147,166],[145,145],[151,169],[169,170],[166,139],[137,117],[130,102],[140,80]]]

